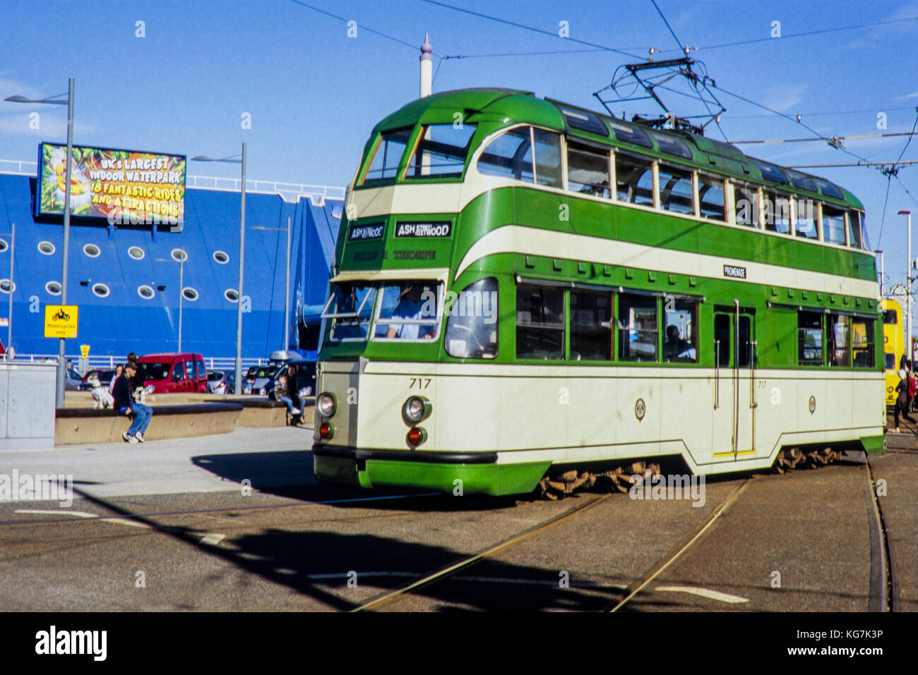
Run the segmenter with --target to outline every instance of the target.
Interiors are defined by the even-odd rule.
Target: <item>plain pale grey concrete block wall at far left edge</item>
[[[54,447],[53,363],[0,362],[0,449]]]

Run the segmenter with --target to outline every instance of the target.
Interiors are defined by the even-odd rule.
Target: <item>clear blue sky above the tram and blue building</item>
[[[291,0],[241,2],[51,2],[6,0],[0,28],[0,99],[66,92],[76,81],[74,142],[213,157],[248,143],[252,179],[346,184],[366,137],[386,114],[418,95],[418,57],[430,32],[437,71],[434,91],[507,86],[597,109],[593,92],[610,82],[622,63],[639,61],[651,46],[672,50],[676,41],[650,0],[443,0],[453,6],[515,21],[545,35],[460,13],[421,0],[304,0],[356,21],[349,38],[344,21]],[[682,44],[698,47],[718,86],[802,121],[823,135],[909,131],[918,105],[913,45],[918,2],[744,2],[657,0]],[[911,21],[802,38],[794,33],[912,17]],[[136,22],[146,37],[136,37]],[[555,37],[566,21],[569,36],[631,51],[481,57],[481,54],[586,50]],[[770,39],[774,21],[782,38]],[[375,29],[409,43],[384,39]],[[710,49],[727,42],[767,39]],[[464,55],[465,59],[441,59]],[[665,57],[677,55],[666,52]],[[475,57],[475,58],[472,58]],[[721,127],[731,140],[804,138],[807,129],[719,94],[727,112]],[[673,94],[678,109],[689,99]],[[620,106],[617,106],[617,108]],[[650,112],[630,104],[633,112]],[[688,108],[687,108],[688,109]],[[39,129],[28,114],[40,114]],[[252,128],[241,128],[249,113]],[[887,128],[878,130],[885,113]],[[62,140],[66,109],[0,103],[0,159],[34,160],[40,140]],[[722,138],[717,129],[708,132]],[[846,148],[871,160],[895,160],[905,138],[849,140]],[[821,142],[741,146],[780,164],[854,161]],[[918,139],[904,160],[918,159]],[[191,162],[189,172],[236,176],[234,165]],[[808,170],[844,185],[868,212],[877,248],[887,179],[865,168]],[[899,182],[901,181],[901,183]],[[890,184],[879,248],[893,282],[904,278],[904,217],[918,212],[918,165],[902,168]],[[904,187],[903,187],[904,186]],[[918,218],[916,218],[918,226]],[[913,257],[918,257],[918,230]]]

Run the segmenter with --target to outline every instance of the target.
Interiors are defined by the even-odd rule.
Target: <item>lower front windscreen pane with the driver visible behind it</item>
[[[425,342],[440,335],[442,283],[405,281],[379,289],[374,340]]]

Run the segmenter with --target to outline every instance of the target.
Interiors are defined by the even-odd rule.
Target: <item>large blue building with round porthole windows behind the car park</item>
[[[33,216],[35,173],[28,173],[28,162],[13,167],[5,173],[0,165],[0,317],[8,314],[12,292],[17,355],[56,355],[58,340],[43,337],[44,306],[61,303],[62,218]],[[245,360],[263,360],[283,349],[285,332],[291,349],[317,349],[342,206],[340,188],[247,181]],[[285,326],[288,218],[290,321]],[[79,306],[79,335],[68,340],[68,357],[76,360],[80,345],[90,346],[91,357],[176,351],[180,314],[183,351],[234,357],[239,224],[239,182],[194,176],[188,176],[180,232],[73,218],[67,302]],[[0,327],[0,340],[6,344],[5,327]]]

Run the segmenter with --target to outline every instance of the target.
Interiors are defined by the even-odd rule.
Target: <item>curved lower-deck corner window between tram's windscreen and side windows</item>
[[[446,353],[457,359],[498,356],[498,280],[479,279],[465,286],[452,305],[444,307]]]

